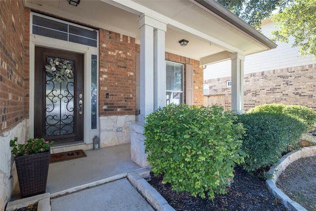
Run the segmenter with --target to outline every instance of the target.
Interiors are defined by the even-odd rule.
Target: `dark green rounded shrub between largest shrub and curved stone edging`
[[[256,171],[274,165],[288,147],[298,147],[298,139],[306,125],[296,118],[278,113],[247,113],[238,115],[246,135],[242,150],[248,154],[243,169]]]

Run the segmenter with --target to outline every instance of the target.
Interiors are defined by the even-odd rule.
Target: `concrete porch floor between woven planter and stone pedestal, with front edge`
[[[85,150],[86,157],[49,164],[46,192],[50,197],[75,192],[144,169],[131,161],[130,144]]]

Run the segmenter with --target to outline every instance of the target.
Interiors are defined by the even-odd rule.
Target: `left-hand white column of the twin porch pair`
[[[140,28],[140,115],[144,123],[146,115],[154,112],[154,28],[146,24],[146,16],[138,23]]]

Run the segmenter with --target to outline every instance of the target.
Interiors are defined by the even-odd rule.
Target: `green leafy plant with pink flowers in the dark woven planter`
[[[17,137],[14,140],[10,140],[10,147],[13,147],[11,153],[15,156],[47,152],[53,144],[54,141],[45,141],[43,138],[30,138],[29,140],[25,140],[24,144],[19,144]]]

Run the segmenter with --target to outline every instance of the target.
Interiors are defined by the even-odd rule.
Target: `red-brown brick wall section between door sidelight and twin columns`
[[[99,115],[134,115],[135,39],[102,29],[99,36]]]

